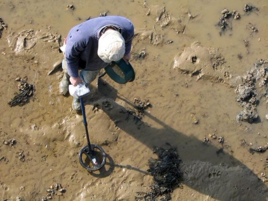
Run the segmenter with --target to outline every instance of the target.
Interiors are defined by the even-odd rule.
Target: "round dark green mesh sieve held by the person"
[[[119,84],[126,84],[135,79],[135,71],[133,67],[130,63],[127,64],[124,59],[111,62],[105,67],[105,72],[113,81]]]

